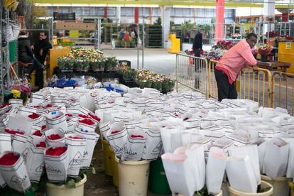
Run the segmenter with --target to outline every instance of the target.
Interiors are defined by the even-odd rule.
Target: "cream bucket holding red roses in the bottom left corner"
[[[46,195],[47,196],[83,196],[84,185],[87,181],[87,175],[84,174],[84,178],[78,183],[75,183],[75,188],[65,187],[65,185],[57,186],[52,183],[46,183]]]

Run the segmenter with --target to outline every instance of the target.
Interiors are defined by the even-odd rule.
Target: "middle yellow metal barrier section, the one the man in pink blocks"
[[[208,65],[208,97],[217,99],[217,81],[214,69],[217,61],[210,60]],[[271,72],[258,67],[244,67],[236,80],[239,99],[251,99],[261,106],[271,107]]]

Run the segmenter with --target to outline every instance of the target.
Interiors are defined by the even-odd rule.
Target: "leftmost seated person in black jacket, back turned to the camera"
[[[33,56],[31,42],[28,39],[28,31],[21,30],[18,36],[18,61],[28,65],[26,76],[30,79],[33,70],[43,70],[43,65]]]

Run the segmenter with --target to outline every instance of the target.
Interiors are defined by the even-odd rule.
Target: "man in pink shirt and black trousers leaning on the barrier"
[[[217,80],[219,102],[222,99],[237,99],[236,78],[245,65],[256,65],[257,60],[251,52],[256,42],[256,34],[249,33],[246,39],[229,49],[217,63],[214,75]]]

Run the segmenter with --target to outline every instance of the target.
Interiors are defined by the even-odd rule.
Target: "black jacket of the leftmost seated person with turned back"
[[[33,62],[33,51],[28,38],[18,38],[18,60],[23,63]]]

